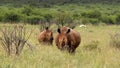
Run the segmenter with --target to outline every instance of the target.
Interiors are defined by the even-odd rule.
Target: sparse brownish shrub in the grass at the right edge
[[[120,48],[120,33],[110,34],[110,46]]]

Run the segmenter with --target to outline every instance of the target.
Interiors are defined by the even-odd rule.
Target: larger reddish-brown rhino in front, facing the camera
[[[57,32],[58,34],[55,37],[55,43],[58,49],[68,50],[70,53],[75,52],[81,42],[80,34],[66,26],[63,26],[60,29],[58,28]]]

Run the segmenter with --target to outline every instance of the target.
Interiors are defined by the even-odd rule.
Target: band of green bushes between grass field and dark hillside
[[[100,7],[101,6],[101,7]],[[120,10],[116,6],[63,5],[38,8],[27,5],[19,8],[0,7],[0,22],[73,24],[120,24]],[[115,8],[116,7],[116,8]],[[118,9],[118,10],[117,10]]]

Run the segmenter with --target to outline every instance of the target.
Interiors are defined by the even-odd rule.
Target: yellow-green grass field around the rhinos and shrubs
[[[0,26],[7,24],[0,24]],[[82,42],[74,55],[63,52],[53,46],[42,46],[38,43],[39,27],[27,25],[34,29],[29,41],[34,44],[33,51],[26,46],[20,56],[7,56],[0,47],[0,68],[119,68],[120,51],[109,44],[110,34],[119,32],[118,25],[87,25],[86,28],[76,26]],[[56,28],[54,28],[55,30]],[[56,32],[54,32],[55,36]],[[97,43],[95,43],[97,42]],[[39,44],[39,45],[36,45]],[[85,46],[95,44],[97,47],[86,49]],[[91,46],[88,46],[91,47]]]

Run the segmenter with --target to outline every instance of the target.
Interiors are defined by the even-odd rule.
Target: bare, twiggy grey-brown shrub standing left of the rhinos
[[[0,43],[8,56],[20,55],[25,44],[31,47],[28,39],[33,30],[29,33],[23,25],[4,26],[0,29]]]

